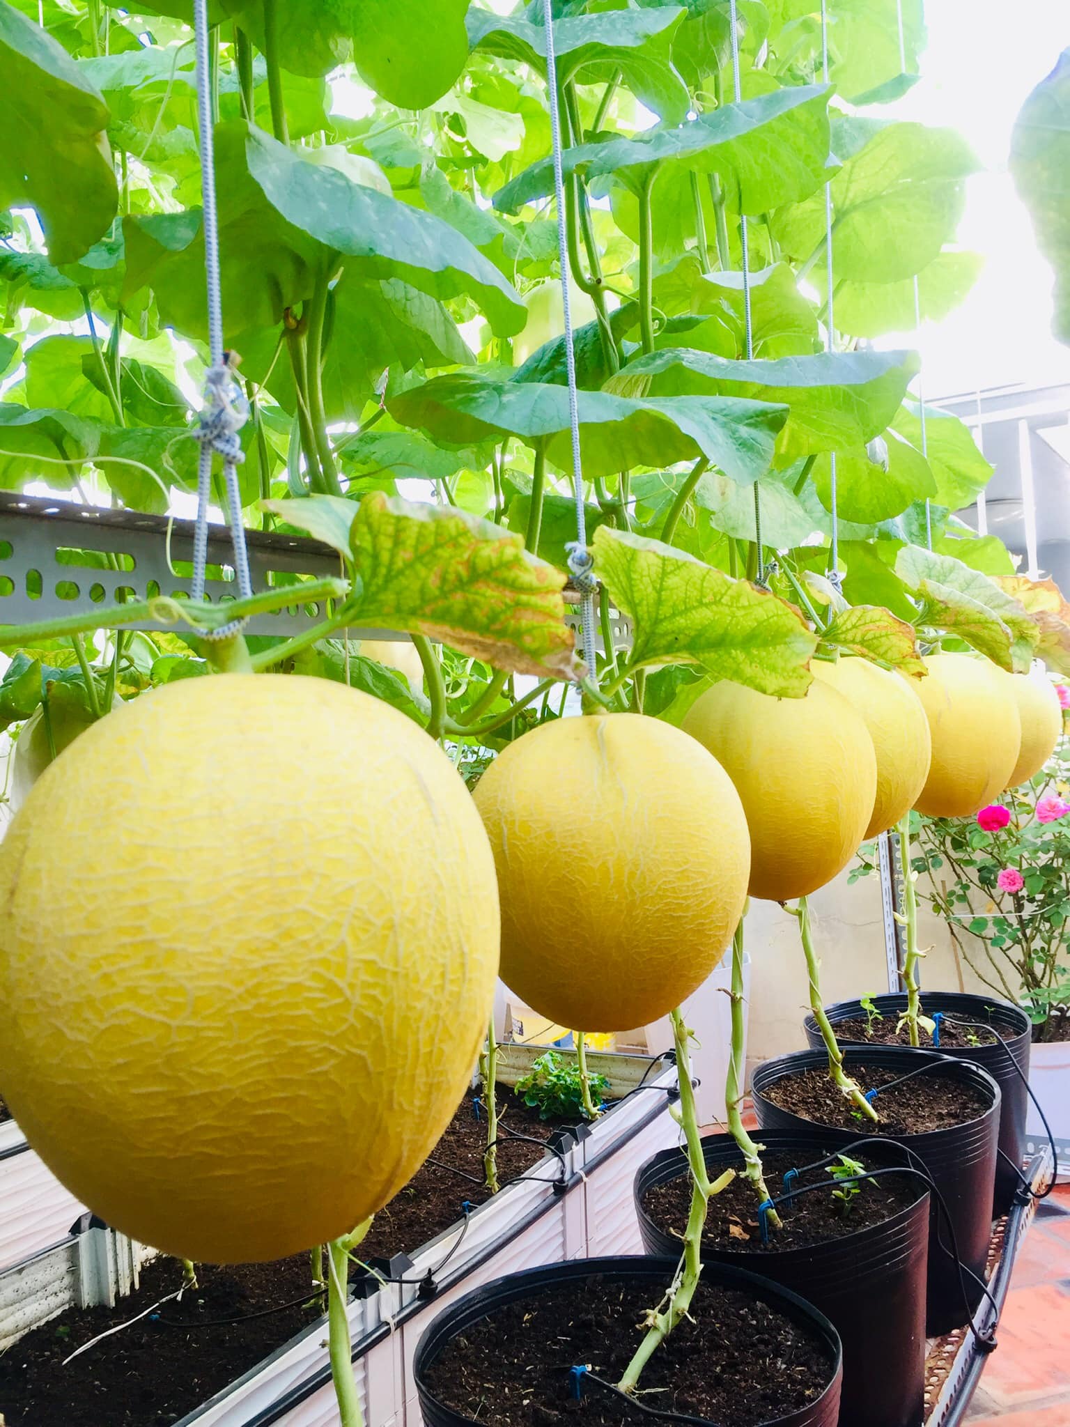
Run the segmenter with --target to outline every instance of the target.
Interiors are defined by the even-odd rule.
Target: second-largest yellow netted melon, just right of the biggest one
[[[746,821],[725,771],[641,714],[525,733],[475,789],[498,866],[502,979],[575,1030],[666,1015],[743,912]]]

